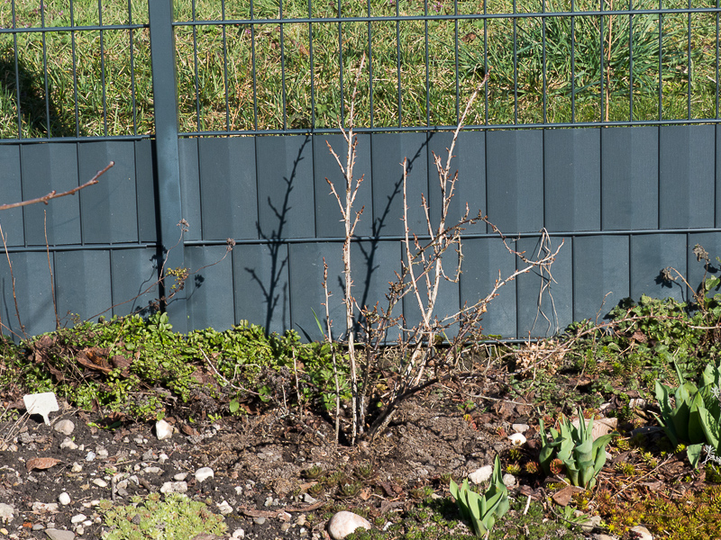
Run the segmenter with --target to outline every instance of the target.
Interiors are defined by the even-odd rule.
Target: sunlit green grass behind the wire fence
[[[46,27],[100,23],[95,0],[77,0],[72,14],[68,0],[47,0],[44,4]],[[131,0],[131,5],[132,23],[148,23],[147,0]],[[629,119],[632,107],[634,120],[640,121],[716,117],[714,14],[690,16],[690,67],[687,58],[689,16],[663,16],[661,74],[658,15],[635,15],[631,88],[627,15],[574,17],[572,69],[571,21],[568,17],[546,19],[545,23],[540,17],[521,18],[515,22],[510,18],[488,19],[485,23],[460,20],[457,31],[453,21],[430,21],[427,23],[427,49],[423,21],[398,24],[383,20],[344,22],[341,24],[341,72],[339,24],[324,21],[338,15],[337,4],[313,2],[310,15],[317,21],[284,24],[282,31],[275,22],[278,5],[278,0],[253,3],[254,17],[269,19],[272,23],[208,25],[195,27],[195,30],[187,25],[176,27],[181,131],[336,127],[342,103],[347,103],[351,94],[355,69],[362,54],[368,52],[369,32],[372,38],[372,92],[366,72],[360,79],[356,121],[359,126],[454,125],[458,110],[462,111],[485,75],[487,58],[491,67],[488,96],[484,95],[474,107],[467,125],[534,123],[544,121],[544,117],[549,122],[625,121]],[[307,0],[286,0],[282,5],[284,19],[309,15]],[[453,14],[451,0],[428,5],[429,14]],[[493,0],[486,5],[489,14],[513,12],[510,0]],[[577,11],[598,10],[598,1],[579,0],[574,5]],[[713,5],[711,0],[702,0],[693,6]],[[687,6],[681,0],[663,4],[664,8]],[[0,5],[0,26],[4,28],[12,27],[11,7],[8,3]],[[612,0],[606,0],[604,4],[604,10],[626,7],[627,4],[614,4]],[[658,3],[638,0],[634,7],[656,8]],[[478,13],[480,9],[478,2],[463,0],[458,2],[458,8],[461,15]],[[226,19],[251,17],[248,0],[226,0],[224,9]],[[519,3],[517,7],[518,13],[538,13],[542,9],[537,0]],[[546,0],[545,9],[547,12],[570,10],[570,0]],[[193,19],[191,2],[177,2],[176,10],[176,21]],[[392,0],[370,0],[371,15],[388,17],[396,13],[424,14],[424,3],[398,0],[396,6]],[[343,17],[367,15],[365,2],[346,1],[342,4]],[[20,28],[40,27],[42,23],[36,0],[16,0],[15,16]],[[195,18],[222,20],[222,3],[198,0]],[[130,21],[127,0],[103,2],[103,24]],[[545,62],[541,52],[543,33]],[[1,137],[17,138],[19,135],[15,48],[19,59],[23,138],[47,136],[47,112],[50,112],[50,134],[53,136],[73,136],[76,132],[80,135],[133,135],[153,131],[150,35],[147,29],[107,30],[102,36],[100,31],[52,31],[45,33],[44,40],[43,52],[41,32],[17,34],[16,44],[13,34],[0,34]],[[458,76],[456,41],[459,47]],[[604,45],[603,68],[601,41]],[[400,58],[397,58],[398,50]],[[45,63],[47,74],[43,68]],[[253,65],[257,74],[255,84]],[[571,73],[575,73],[573,84]],[[45,103],[46,75],[49,111],[46,111]],[[78,125],[75,121],[76,101]]]

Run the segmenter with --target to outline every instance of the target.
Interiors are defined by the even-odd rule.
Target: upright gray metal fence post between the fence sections
[[[185,267],[183,244],[178,243],[183,219],[180,199],[180,166],[178,159],[178,86],[175,67],[175,34],[173,0],[148,3],[151,25],[152,93],[155,112],[155,157],[157,163],[156,208],[160,213],[160,245],[167,257],[166,273]],[[168,280],[165,293],[169,293]],[[178,332],[187,332],[186,297],[180,291],[166,307],[170,322]]]

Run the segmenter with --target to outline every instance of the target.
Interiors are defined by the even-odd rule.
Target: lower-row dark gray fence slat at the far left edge
[[[47,255],[41,252],[14,253],[11,261],[18,311],[25,331],[29,336],[35,336],[55,329]],[[15,312],[13,280],[6,257],[0,257],[0,310],[3,324],[15,333],[16,339],[23,338],[23,330]],[[3,334],[8,334],[7,329],[3,329]]]

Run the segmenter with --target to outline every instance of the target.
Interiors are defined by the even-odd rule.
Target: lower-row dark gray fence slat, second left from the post
[[[59,251],[55,254],[55,295],[63,324],[96,317],[113,305],[110,289],[110,252]]]

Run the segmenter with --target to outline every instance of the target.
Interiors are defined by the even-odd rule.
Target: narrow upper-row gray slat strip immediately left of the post
[[[155,185],[155,141],[135,143],[135,186],[138,193],[138,234],[141,242],[158,241],[158,207]]]

